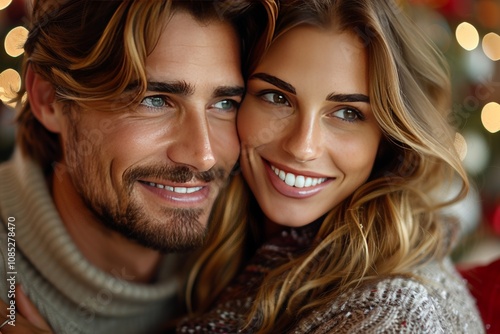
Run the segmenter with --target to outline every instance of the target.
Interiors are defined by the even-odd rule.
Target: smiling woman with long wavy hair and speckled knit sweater
[[[481,333],[441,209],[468,180],[442,56],[388,0],[287,0],[181,333]],[[452,180],[452,201],[433,196]],[[251,192],[250,192],[251,191]]]

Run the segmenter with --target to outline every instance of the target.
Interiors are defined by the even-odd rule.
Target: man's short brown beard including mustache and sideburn
[[[159,179],[172,182],[203,180],[222,185],[226,178],[223,168],[212,168],[206,172],[196,172],[186,166],[144,166],[127,169],[122,176],[122,189],[117,193],[110,185],[108,166],[100,164],[100,143],[91,144],[91,153],[75,156],[79,145],[86,141],[78,130],[78,122],[73,120],[69,143],[65,156],[72,156],[78,163],[70,166],[72,182],[87,208],[106,227],[119,232],[126,238],[161,252],[180,252],[201,247],[207,234],[207,223],[200,217],[208,217],[202,208],[164,207],[148,214],[146,208],[134,201],[133,187],[138,180]],[[87,145],[88,147],[88,145]],[[76,160],[74,160],[76,159]],[[73,168],[71,168],[73,167]],[[103,187],[104,186],[104,187]],[[207,208],[210,210],[210,208]]]

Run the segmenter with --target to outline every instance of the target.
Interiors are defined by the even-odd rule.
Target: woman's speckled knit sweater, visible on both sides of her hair
[[[311,239],[310,230],[291,229],[264,244],[215,307],[185,319],[178,332],[255,332],[242,327],[258,286],[271,268],[289,261]],[[449,259],[414,273],[422,280],[391,277],[344,293],[297,319],[287,333],[484,333],[475,302]]]

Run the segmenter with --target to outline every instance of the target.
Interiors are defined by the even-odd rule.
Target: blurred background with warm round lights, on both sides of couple
[[[454,259],[500,258],[500,0],[408,0],[405,10],[442,50],[451,69],[450,120],[474,190],[456,205],[464,227]],[[29,0],[0,0],[0,161],[12,153]],[[0,187],[2,185],[0,184]]]

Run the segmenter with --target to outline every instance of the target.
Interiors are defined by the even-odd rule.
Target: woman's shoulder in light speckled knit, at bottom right
[[[414,276],[351,289],[302,319],[295,333],[484,333],[464,281],[449,261]]]

